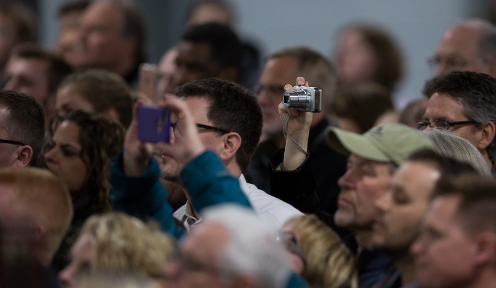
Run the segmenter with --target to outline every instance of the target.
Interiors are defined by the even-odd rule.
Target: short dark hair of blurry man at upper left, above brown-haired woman
[[[57,87],[72,72],[72,67],[57,54],[34,43],[20,44],[14,48],[11,58],[40,59],[48,62],[48,92],[57,92]]]

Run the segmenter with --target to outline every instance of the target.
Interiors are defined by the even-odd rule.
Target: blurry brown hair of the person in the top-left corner
[[[36,41],[36,15],[31,8],[18,1],[1,1],[0,13],[14,20],[18,43]]]

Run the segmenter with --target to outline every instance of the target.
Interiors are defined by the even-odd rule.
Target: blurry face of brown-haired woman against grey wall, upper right
[[[339,37],[336,63],[339,81],[350,84],[372,81],[378,59],[362,34],[348,29]]]

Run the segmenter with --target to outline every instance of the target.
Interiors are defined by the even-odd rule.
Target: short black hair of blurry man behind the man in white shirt
[[[193,25],[181,36],[182,41],[207,43],[212,57],[222,67],[241,67],[241,42],[231,27],[219,23]]]

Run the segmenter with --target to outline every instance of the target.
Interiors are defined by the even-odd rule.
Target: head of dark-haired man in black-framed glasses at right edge
[[[439,128],[453,131],[472,143],[490,168],[496,160],[496,79],[475,72],[450,72],[428,81],[429,98],[421,130]]]

